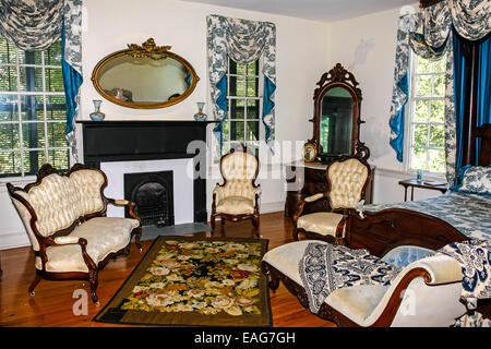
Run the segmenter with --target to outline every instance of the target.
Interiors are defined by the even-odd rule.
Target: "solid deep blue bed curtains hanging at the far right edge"
[[[456,136],[457,136],[457,158],[455,163],[455,172],[458,173],[462,167],[463,160],[463,124],[468,122],[465,118],[468,106],[466,105],[466,85],[470,79],[469,62],[463,51],[464,38],[462,38],[455,29],[452,31],[454,40],[454,95],[455,95],[455,122],[456,122]],[[477,119],[475,127],[480,127],[483,123],[491,123],[491,109],[490,109],[490,88],[491,88],[491,43],[488,35],[479,45],[479,65],[478,65],[478,91],[477,91]],[[477,141],[479,142],[479,141]],[[476,149],[479,149],[477,144]],[[472,165],[477,165],[479,158],[478,152],[476,152],[476,158]],[[458,176],[457,176],[458,178]],[[456,182],[457,183],[457,179]]]

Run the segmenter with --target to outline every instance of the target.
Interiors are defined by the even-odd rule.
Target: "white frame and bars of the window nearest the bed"
[[[407,156],[405,156],[405,160],[404,160],[404,167],[406,172],[410,172],[410,173],[416,173],[417,169],[412,169],[411,168],[411,163],[412,163],[412,144],[414,144],[414,132],[412,132],[412,125],[414,124],[428,124],[428,125],[445,125],[444,122],[432,122],[431,119],[428,120],[428,122],[415,122],[414,121],[414,117],[415,117],[415,112],[416,112],[416,101],[417,100],[443,100],[445,99],[445,94],[443,94],[443,96],[433,96],[433,88],[434,85],[432,84],[432,96],[428,97],[428,96],[417,96],[416,95],[416,87],[417,87],[417,77],[421,76],[421,75],[427,75],[427,76],[431,76],[431,75],[445,75],[446,72],[431,72],[431,73],[418,73],[417,72],[417,64],[418,64],[418,56],[410,51],[410,68],[409,68],[409,73],[410,73],[410,79],[409,79],[409,95],[408,95],[408,100],[406,103],[406,111],[405,111],[405,142],[404,142],[404,152]],[[431,111],[430,111],[431,112]],[[443,147],[434,147],[434,146],[430,146],[429,142],[430,142],[430,127],[428,127],[428,135],[427,135],[427,146],[423,147],[424,149],[430,151],[430,149],[436,149],[436,151],[445,151],[445,146]],[[427,154],[427,169],[429,168],[429,156]],[[426,174],[430,174],[430,176],[436,176],[436,177],[441,177],[445,174],[445,170],[443,170],[442,172],[436,172],[436,171],[430,171],[430,170],[423,170],[423,173]]]

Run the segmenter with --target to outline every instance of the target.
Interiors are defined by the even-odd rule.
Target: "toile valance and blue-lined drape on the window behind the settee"
[[[79,161],[74,120],[82,85],[82,0],[0,0],[0,35],[26,51],[43,51],[61,36],[67,140]]]

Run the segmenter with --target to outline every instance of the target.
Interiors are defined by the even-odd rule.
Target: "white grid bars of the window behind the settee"
[[[32,151],[38,151],[38,152],[45,152],[45,158],[47,163],[50,163],[50,155],[49,155],[49,151],[58,151],[58,149],[64,149],[69,152],[69,158],[68,158],[68,166],[69,168],[72,165],[72,149],[69,146],[69,144],[67,143],[67,146],[49,146],[49,139],[48,139],[48,124],[49,123],[63,123],[64,125],[67,125],[67,120],[61,121],[61,120],[47,120],[47,100],[48,97],[50,96],[62,96],[63,98],[65,97],[64,91],[63,92],[47,92],[46,91],[46,70],[47,69],[59,69],[61,70],[61,65],[48,65],[45,64],[45,51],[40,52],[41,55],[41,64],[28,64],[28,63],[21,63],[20,60],[20,56],[21,52],[20,50],[15,47],[15,63],[1,63],[0,62],[0,67],[13,67],[15,68],[15,74],[16,74],[16,91],[0,91],[0,96],[14,96],[16,95],[16,109],[17,109],[17,119],[16,120],[12,120],[12,121],[2,121],[0,120],[0,125],[1,124],[17,124],[19,125],[19,142],[20,142],[20,147],[19,148],[12,148],[12,149],[0,149],[0,153],[20,153],[21,155],[21,174],[20,176],[14,176],[14,173],[12,173],[13,176],[9,176],[7,173],[2,173],[0,177],[0,182],[5,182],[5,181],[15,181],[15,179],[27,179],[27,178],[33,178],[34,176],[32,173],[28,173],[26,176],[25,172],[25,160],[24,160],[24,153],[25,152],[32,152]],[[21,76],[21,69],[25,69],[25,68],[38,68],[41,69],[43,72],[43,91],[37,91],[37,92],[26,92],[26,91],[21,91],[20,86],[20,76]],[[43,115],[44,118],[43,120],[22,120],[22,97],[23,96],[43,96]],[[38,124],[43,124],[44,130],[45,130],[45,146],[44,147],[34,147],[34,148],[29,148],[29,147],[24,147],[24,132],[23,132],[23,124],[29,124],[29,123],[38,123]],[[39,164],[39,167],[43,164]]]

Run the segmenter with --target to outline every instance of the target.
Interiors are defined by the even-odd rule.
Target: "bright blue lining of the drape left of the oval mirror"
[[[64,58],[64,21],[61,32],[61,70],[63,73],[64,96],[67,99],[67,134],[73,132],[73,118],[76,111],[76,96],[82,85],[82,75]]]

